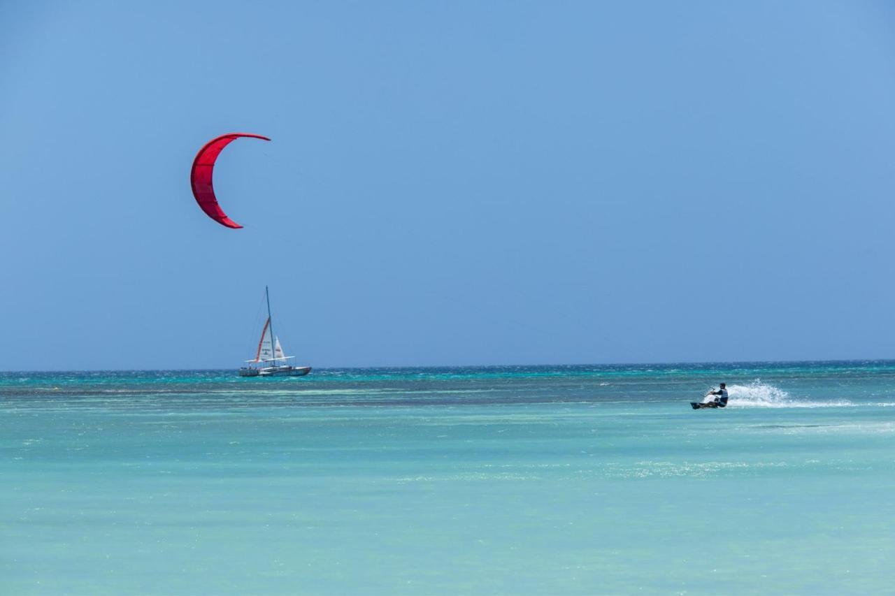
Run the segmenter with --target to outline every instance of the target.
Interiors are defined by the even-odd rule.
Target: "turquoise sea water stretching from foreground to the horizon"
[[[895,593],[895,362],[234,375],[0,374],[0,593]]]

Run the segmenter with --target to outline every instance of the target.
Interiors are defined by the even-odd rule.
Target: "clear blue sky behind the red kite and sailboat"
[[[0,370],[895,358],[884,2],[3,0],[0,131]]]

